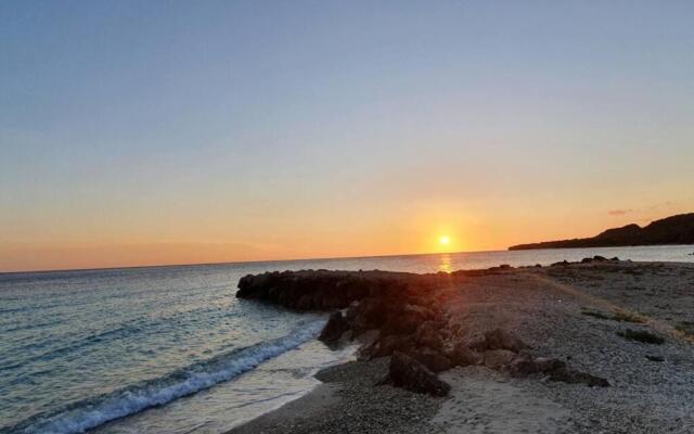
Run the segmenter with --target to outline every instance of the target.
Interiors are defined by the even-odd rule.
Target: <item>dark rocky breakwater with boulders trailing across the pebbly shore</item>
[[[298,310],[332,310],[320,340],[334,346],[369,331],[376,336],[358,352],[360,359],[390,357],[380,384],[445,396],[450,386],[437,373],[457,366],[486,366],[514,376],[607,386],[606,380],[573,370],[566,362],[534,354],[512,332],[492,328],[460,342],[449,328],[446,297],[459,279],[510,272],[511,267],[454,273],[414,275],[386,271],[284,271],[246,276],[240,298]]]

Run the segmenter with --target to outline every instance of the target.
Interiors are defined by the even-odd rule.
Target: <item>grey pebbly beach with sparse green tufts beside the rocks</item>
[[[312,393],[229,434],[694,431],[694,265],[496,268],[426,296],[440,305],[447,345],[502,328],[527,344],[524,357],[563,360],[609,386],[484,363],[440,372],[451,390],[434,397],[381,384],[389,357],[376,357],[320,372]]]

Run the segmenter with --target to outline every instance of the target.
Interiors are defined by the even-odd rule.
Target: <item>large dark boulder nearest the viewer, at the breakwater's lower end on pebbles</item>
[[[434,396],[446,396],[451,390],[450,385],[439,380],[424,365],[399,352],[390,357],[386,382],[396,387]]]

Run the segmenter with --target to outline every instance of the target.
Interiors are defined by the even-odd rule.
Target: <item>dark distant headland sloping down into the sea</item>
[[[615,247],[626,245],[694,244],[694,213],[652,221],[648,226],[627,225],[607,229],[592,238],[518,244],[510,251],[530,248]]]

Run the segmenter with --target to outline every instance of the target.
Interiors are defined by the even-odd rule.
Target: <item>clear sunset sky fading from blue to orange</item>
[[[0,271],[503,250],[694,212],[692,16],[0,2]]]

